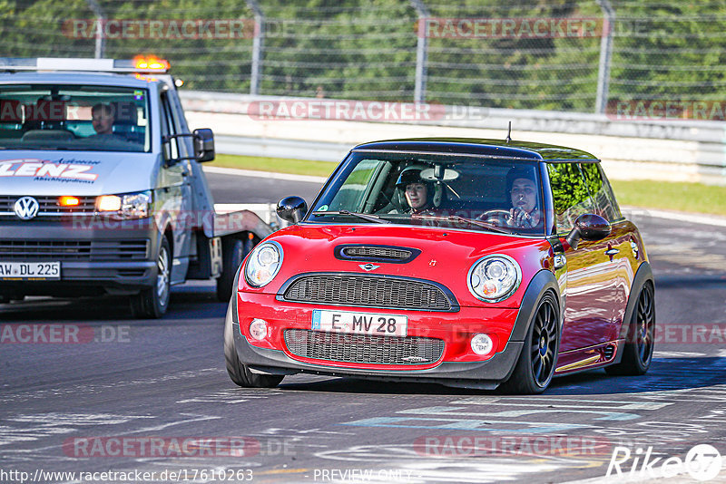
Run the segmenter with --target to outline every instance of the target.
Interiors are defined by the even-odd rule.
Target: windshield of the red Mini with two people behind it
[[[394,223],[544,235],[536,161],[354,151],[308,221]]]

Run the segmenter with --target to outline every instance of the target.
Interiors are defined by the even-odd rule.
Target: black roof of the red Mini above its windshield
[[[359,144],[353,151],[402,151],[421,153],[472,154],[513,160],[599,161],[583,150],[544,143],[476,138],[408,138],[403,140],[372,141]]]

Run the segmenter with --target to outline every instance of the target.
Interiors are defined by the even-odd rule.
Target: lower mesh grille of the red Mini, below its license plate
[[[329,362],[430,364],[444,353],[444,340],[286,329],[285,345],[296,356]]]

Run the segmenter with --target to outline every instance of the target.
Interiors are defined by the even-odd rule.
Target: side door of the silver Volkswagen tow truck
[[[162,108],[162,136],[180,134],[181,124],[178,113],[173,109],[168,92],[162,92],[160,99]],[[162,141],[164,139],[162,138]],[[191,188],[189,182],[190,161],[193,153],[189,152],[187,143],[178,138],[162,142],[164,158],[162,166],[163,189],[160,192],[161,209],[169,214],[172,224],[172,284],[184,282],[189,268],[191,227],[195,225],[194,211],[191,207]]]

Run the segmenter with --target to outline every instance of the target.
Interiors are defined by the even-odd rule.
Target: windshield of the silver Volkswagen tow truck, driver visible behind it
[[[148,112],[145,89],[0,85],[0,148],[148,152]]]

